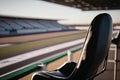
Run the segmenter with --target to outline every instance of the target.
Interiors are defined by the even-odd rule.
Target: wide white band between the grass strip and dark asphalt
[[[56,51],[56,50],[59,50],[59,49],[64,49],[66,47],[74,46],[74,45],[83,43],[84,40],[85,40],[84,38],[83,39],[78,39],[78,40],[54,45],[54,46],[51,46],[51,47],[46,47],[46,48],[42,48],[42,49],[39,49],[39,50],[31,51],[31,52],[24,53],[24,54],[21,54],[21,55],[13,56],[13,57],[10,57],[10,58],[7,58],[7,59],[3,59],[3,60],[0,60],[0,68],[6,67],[6,66],[9,66],[9,65],[18,63],[18,62],[22,62],[24,60],[27,60],[27,59],[30,59],[30,58],[33,58],[33,57],[37,57],[37,56],[40,56],[42,54],[46,54],[46,53],[48,54],[50,52],[53,52],[53,51]]]

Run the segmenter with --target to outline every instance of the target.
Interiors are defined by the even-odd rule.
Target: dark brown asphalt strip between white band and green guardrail
[[[78,44],[80,45],[80,44]],[[78,46],[78,45],[75,45],[75,46]],[[75,47],[75,46],[72,46],[72,47]],[[24,60],[22,62],[19,62],[19,63],[15,63],[13,65],[9,65],[9,66],[6,66],[6,67],[3,67],[3,68],[0,68],[0,75],[2,74],[5,74],[7,72],[10,72],[10,71],[13,71],[15,69],[18,69],[20,67],[23,67],[23,66],[26,66],[30,63],[33,63],[35,61],[38,61],[38,60],[42,60],[44,58],[47,58],[47,57],[50,57],[52,55],[56,55],[57,53],[60,53],[60,52],[63,52],[67,49],[70,49],[72,47],[68,47],[68,48],[64,48],[64,49],[60,49],[60,50],[57,50],[57,51],[54,51],[54,52],[50,52],[49,54],[43,54],[43,55],[40,55],[40,56],[37,56],[37,57],[34,57],[34,58],[31,58],[31,59],[27,59],[27,60]]]

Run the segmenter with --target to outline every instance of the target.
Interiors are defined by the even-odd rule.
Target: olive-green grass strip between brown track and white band
[[[26,42],[22,44],[13,45],[13,46],[1,47],[0,56],[27,52],[30,50],[39,49],[45,46],[50,46],[50,45],[54,45],[62,42],[72,41],[72,40],[80,39],[83,37],[85,37],[85,33],[74,34],[74,35],[63,36],[63,37],[55,37],[55,38],[50,38],[45,40]]]

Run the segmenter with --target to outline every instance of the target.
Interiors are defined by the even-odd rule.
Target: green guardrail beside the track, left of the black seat
[[[75,47],[75,48],[71,49],[70,52],[73,54],[74,52],[80,50],[81,47],[82,47],[82,45],[79,47]],[[66,55],[67,55],[67,52],[63,52],[61,54],[51,56],[51,57],[46,58],[44,60],[40,60],[34,64],[23,67],[20,70],[13,71],[12,73],[6,74],[6,75],[0,77],[0,80],[8,80],[8,79],[17,80],[17,79],[22,78],[25,75],[28,75],[34,71],[40,70],[41,67],[39,65],[41,65],[41,64],[48,65],[49,63],[54,62],[54,61],[66,56]]]

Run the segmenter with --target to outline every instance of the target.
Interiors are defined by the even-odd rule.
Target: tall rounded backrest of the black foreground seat
[[[80,79],[85,80],[94,75],[101,65],[111,43],[112,19],[107,13],[96,16],[89,28],[82,53],[84,60],[78,63]]]

